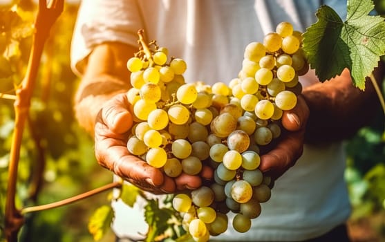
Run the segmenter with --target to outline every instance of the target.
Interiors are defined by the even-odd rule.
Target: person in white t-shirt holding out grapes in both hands
[[[139,29],[170,55],[187,62],[187,82],[229,82],[238,75],[243,50],[262,41],[281,21],[304,31],[326,4],[346,16],[340,0],[84,0],[73,35],[71,66],[82,78],[75,97],[79,124],[95,137],[95,156],[106,169],[153,194],[194,189],[198,176],[173,180],[131,156],[126,149],[132,119],[124,93],[130,89],[126,62],[138,51]],[[249,232],[229,229],[220,241],[348,241],[350,203],[343,140],[363,126],[376,109],[370,82],[355,88],[348,70],[328,82],[314,71],[300,79],[303,93],[283,115],[291,132],[261,157],[261,170],[276,178],[270,201]],[[286,172],[287,171],[287,172]],[[189,182],[186,182],[189,180]],[[147,231],[140,205],[113,201],[118,237],[143,239]],[[135,219],[131,219],[135,218]],[[142,233],[142,234],[141,234]]]

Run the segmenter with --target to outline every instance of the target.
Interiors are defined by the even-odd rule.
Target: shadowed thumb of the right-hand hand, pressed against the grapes
[[[301,95],[297,97],[297,105],[292,110],[283,111],[282,125],[288,131],[303,129],[308,121],[309,108]]]

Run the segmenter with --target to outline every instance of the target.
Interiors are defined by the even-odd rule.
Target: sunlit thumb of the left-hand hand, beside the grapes
[[[118,95],[106,103],[102,109],[102,121],[114,133],[126,133],[133,125],[126,95]]]

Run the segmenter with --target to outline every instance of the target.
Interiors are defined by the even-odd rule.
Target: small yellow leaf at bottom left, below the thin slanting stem
[[[109,230],[112,220],[113,210],[109,205],[103,205],[93,213],[88,222],[88,231],[95,241],[102,239],[106,230]]]

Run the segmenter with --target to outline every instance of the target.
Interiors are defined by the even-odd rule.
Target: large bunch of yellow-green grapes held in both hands
[[[214,171],[212,181],[172,201],[195,241],[225,232],[229,211],[236,214],[234,229],[247,232],[271,195],[271,179],[259,170],[260,148],[281,136],[283,111],[297,104],[299,75],[308,71],[301,33],[283,22],[263,43],[248,44],[228,86],[187,84],[182,59],[168,59],[166,48],[145,44],[142,35],[140,43],[127,62],[135,116],[129,151],[171,178]]]

